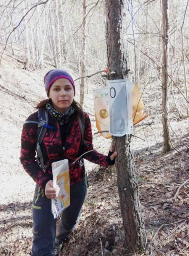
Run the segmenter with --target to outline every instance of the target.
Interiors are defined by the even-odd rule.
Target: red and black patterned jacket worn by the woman
[[[85,112],[84,116],[86,123],[84,132],[85,143],[82,145],[80,155],[93,149],[90,119]],[[31,114],[31,116],[27,118],[27,121],[38,121],[38,113],[35,112]],[[41,144],[44,165],[47,166],[46,172],[42,171],[36,160],[37,124],[27,123],[23,126],[21,135],[21,164],[40,188],[45,188],[46,183],[52,180],[52,162],[68,159],[70,185],[73,185],[82,180],[85,176],[84,168],[79,166],[79,162],[72,165],[79,157],[79,145],[81,144],[81,130],[79,128],[78,119],[75,116],[73,124],[67,134],[63,132],[62,127],[60,127],[56,119],[50,114],[48,124],[55,127],[55,129],[47,129]],[[105,156],[94,150],[85,154],[84,158],[95,164],[106,166],[114,164],[114,161],[110,160],[110,155],[111,153]]]

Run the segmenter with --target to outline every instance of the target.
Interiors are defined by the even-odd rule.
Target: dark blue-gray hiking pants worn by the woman
[[[70,206],[61,214],[57,241],[67,238],[74,229],[87,193],[85,179],[70,187]],[[45,197],[44,190],[36,185],[33,200],[33,245],[31,256],[53,256],[56,237],[56,219],[51,211],[51,200]]]

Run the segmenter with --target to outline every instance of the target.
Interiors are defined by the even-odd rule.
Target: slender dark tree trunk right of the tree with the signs
[[[162,69],[162,123],[163,123],[163,151],[171,149],[168,130],[168,0],[162,0],[162,28],[163,28],[163,69]]]

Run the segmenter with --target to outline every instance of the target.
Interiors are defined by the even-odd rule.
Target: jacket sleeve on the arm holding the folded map
[[[37,121],[36,113],[27,118],[27,121]],[[43,188],[43,183],[47,183],[50,177],[44,173],[36,160],[37,124],[27,123],[23,125],[21,134],[21,154],[20,162],[24,170],[32,179]]]

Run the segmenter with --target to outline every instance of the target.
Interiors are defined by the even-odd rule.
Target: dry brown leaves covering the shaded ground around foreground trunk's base
[[[188,152],[165,155],[159,151],[144,154],[143,150],[135,160],[147,236],[145,251],[129,254],[124,248],[115,170],[96,168],[90,174],[78,229],[60,255],[189,255],[189,183],[180,188],[174,200],[189,175]]]

